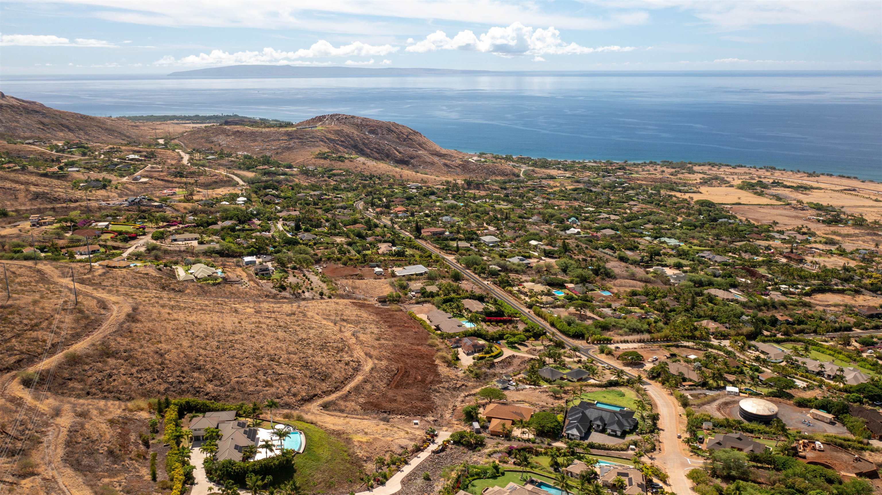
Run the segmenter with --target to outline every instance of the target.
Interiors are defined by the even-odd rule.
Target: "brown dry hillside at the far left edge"
[[[125,119],[65,112],[0,92],[0,137],[130,143],[147,135],[148,129]]]

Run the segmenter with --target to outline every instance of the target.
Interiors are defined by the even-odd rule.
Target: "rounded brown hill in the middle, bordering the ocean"
[[[469,161],[466,153],[445,150],[420,132],[401,124],[355,115],[319,115],[287,129],[212,126],[193,130],[181,141],[193,148],[269,154],[274,159],[301,165],[312,162],[317,151],[334,151],[421,174],[445,177],[515,175],[511,166]],[[340,167],[346,167],[346,164],[340,164]]]

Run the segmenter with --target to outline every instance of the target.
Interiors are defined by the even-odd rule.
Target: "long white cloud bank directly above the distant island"
[[[229,53],[223,50],[212,50],[210,53],[188,55],[180,59],[166,55],[153,65],[288,65],[300,58],[344,57],[344,56],[382,56],[398,51],[392,45],[368,45],[355,41],[348,45],[334,47],[331,43],[316,41],[310,48],[301,48],[290,52],[275,48],[264,48],[261,51],[243,51]],[[300,63],[301,65],[317,65],[317,63]]]

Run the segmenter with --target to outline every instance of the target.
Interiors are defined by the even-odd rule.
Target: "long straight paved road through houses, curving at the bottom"
[[[374,219],[380,224],[389,226],[393,229],[398,230],[399,233],[406,235],[414,239],[414,236],[408,233],[407,231],[401,230],[395,225],[392,225],[391,222],[386,220],[385,218],[379,218],[376,215],[371,214],[370,212],[364,210],[364,202],[358,201],[355,203],[355,208],[364,212],[365,215]],[[485,282],[481,277],[477,277],[471,270],[468,270],[465,266],[460,265],[459,262],[456,262],[452,259],[452,256],[446,255],[442,251],[440,251],[437,247],[431,245],[430,243],[414,239],[420,246],[425,247],[430,253],[439,256],[445,263],[450,265],[452,268],[459,270],[463,276],[467,277],[470,281],[477,284],[482,289],[490,292],[493,296],[497,297],[497,299],[502,299],[509,306],[519,310],[521,314],[524,314],[528,320],[533,321],[542,329],[545,329],[547,333],[551,336],[555,336],[557,339],[564,341],[568,347],[576,347],[579,349],[579,353],[587,358],[593,358],[601,363],[607,364],[614,369],[622,370],[626,376],[637,378],[641,381],[644,388],[647,390],[647,394],[652,397],[654,403],[656,403],[660,412],[660,420],[659,420],[659,428],[662,430],[661,432],[661,440],[662,440],[662,454],[658,454],[655,456],[655,462],[658,463],[659,467],[662,468],[665,472],[668,473],[669,476],[669,484],[670,488],[674,489],[673,491],[677,494],[691,494],[694,493],[691,489],[691,483],[686,478],[686,471],[691,466],[691,463],[687,457],[683,454],[684,444],[679,439],[676,438],[677,433],[677,417],[679,415],[677,404],[674,402],[674,398],[669,396],[668,391],[666,391],[662,386],[654,383],[652,381],[643,380],[641,376],[631,373],[628,370],[617,365],[615,362],[607,361],[605,358],[601,358],[592,354],[586,347],[584,342],[575,342],[572,341],[569,337],[564,336],[557,329],[551,327],[546,321],[542,320],[531,311],[524,307],[518,299],[512,297],[511,294],[499,289],[492,284]],[[667,445],[667,448],[664,448],[664,445]],[[700,464],[698,461],[695,461],[695,467],[698,467]]]

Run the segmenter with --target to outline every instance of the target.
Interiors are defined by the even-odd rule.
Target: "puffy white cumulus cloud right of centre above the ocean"
[[[586,55],[597,52],[627,52],[633,49],[636,48],[617,45],[598,48],[583,47],[561,40],[560,31],[554,27],[534,29],[515,22],[508,27],[491,27],[487,33],[481,35],[475,35],[475,33],[465,30],[450,38],[445,32],[436,31],[426,36],[425,40],[408,46],[405,51],[426,53],[436,50],[470,50],[511,57],[517,55]]]

